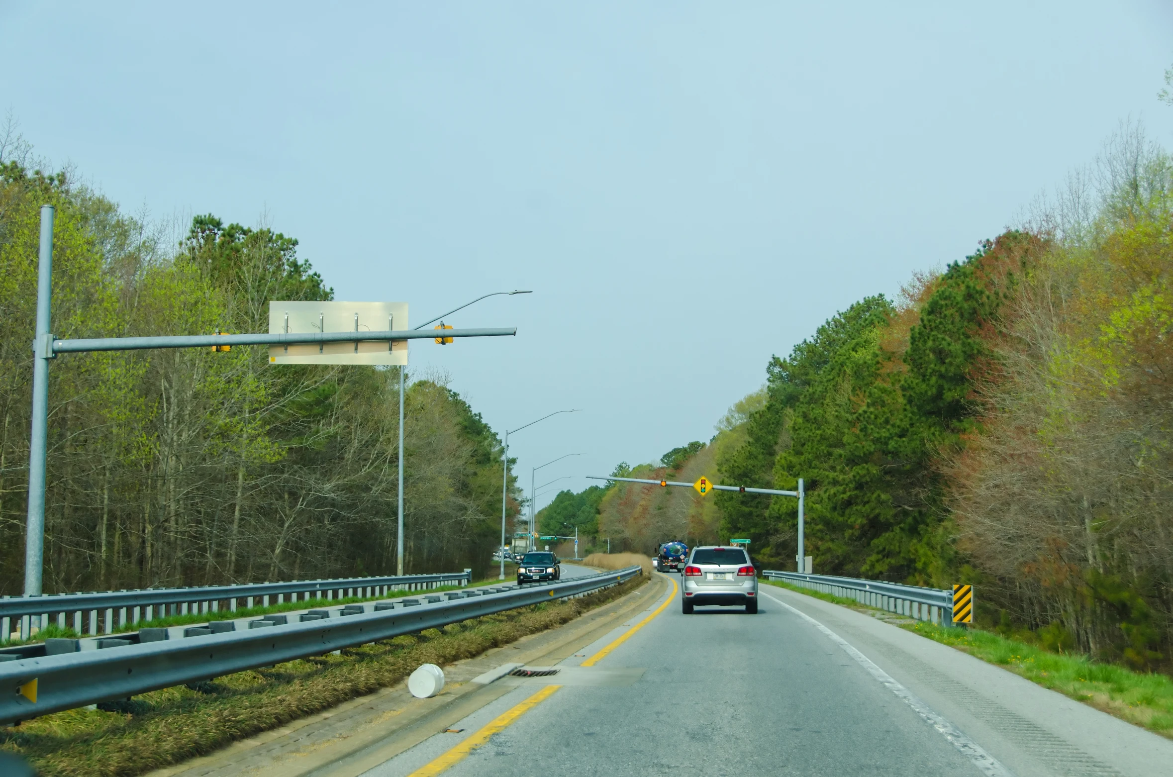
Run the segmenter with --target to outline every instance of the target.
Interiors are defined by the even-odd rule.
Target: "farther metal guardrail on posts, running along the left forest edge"
[[[467,586],[472,570],[433,575],[401,575],[388,577],[338,577],[333,580],[300,580],[296,582],[246,583],[243,586],[196,586],[191,588],[145,588],[140,590],[108,590],[88,594],[48,594],[45,596],[6,596],[0,599],[0,639],[9,639],[14,619],[19,619],[20,639],[32,636],[33,619],[40,624],[56,623],[73,627],[77,634],[110,634],[167,615],[218,613],[224,604],[236,612],[240,601],[252,607],[256,600],[264,606],[271,597],[276,603],[346,596],[372,597],[389,590],[423,590],[439,586]],[[359,593],[354,593],[359,592]],[[286,600],[286,597],[289,597]]]

